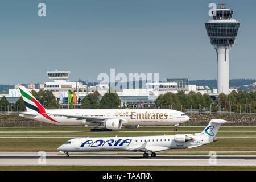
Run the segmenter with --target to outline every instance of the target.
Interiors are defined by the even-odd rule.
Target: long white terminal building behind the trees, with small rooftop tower
[[[93,86],[83,85],[82,82],[69,81],[70,71],[47,71],[49,80],[40,84],[39,88],[35,88],[35,84],[26,85],[29,91],[35,90],[50,90],[56,100],[60,100],[60,96],[64,96],[64,102],[60,104],[61,107],[68,108],[68,90],[71,92],[79,92],[78,106],[80,106],[82,99],[97,90],[100,93],[98,96],[101,98],[109,90],[108,84],[97,84]],[[160,94],[168,92],[178,93],[181,90],[188,94],[189,92],[200,92],[201,94],[209,94],[211,97],[217,96],[218,93],[212,93],[208,86],[189,85],[188,78],[168,78],[166,82],[146,82],[141,88],[134,89],[121,89],[116,91],[120,100],[121,107],[152,107],[155,108],[155,100]],[[10,89],[8,94],[0,94],[1,97],[5,96],[11,105],[14,105],[18,98],[21,96],[19,86],[15,85],[14,89]],[[24,85],[23,85],[24,86]]]

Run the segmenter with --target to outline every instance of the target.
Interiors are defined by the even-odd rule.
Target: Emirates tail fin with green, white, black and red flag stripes
[[[43,117],[51,121],[57,122],[51,117],[49,117],[49,115],[46,113],[46,109],[44,109],[44,107],[38,102],[38,100],[36,100],[36,98],[30,92],[28,92],[28,90],[24,86],[20,86],[19,90],[20,90],[20,93],[22,94],[24,104],[28,111],[27,113],[23,113],[23,114],[35,113],[36,111],[36,113],[43,115]]]

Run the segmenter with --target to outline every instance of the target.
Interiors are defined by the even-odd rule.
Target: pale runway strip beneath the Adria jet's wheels
[[[0,153],[0,165],[82,165],[82,166],[256,166],[256,155],[84,155],[68,158],[57,152]]]

